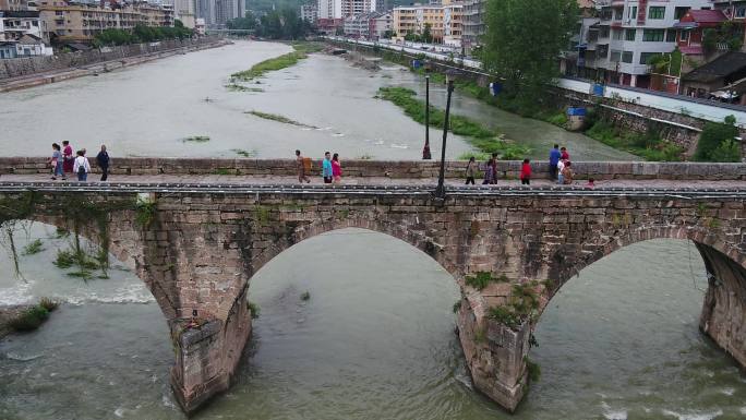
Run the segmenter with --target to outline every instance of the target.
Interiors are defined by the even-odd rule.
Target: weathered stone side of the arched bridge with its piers
[[[171,327],[185,411],[230,385],[251,332],[250,279],[285,249],[334,229],[399,238],[461,289],[457,325],[476,387],[514,410],[532,327],[582,267],[627,244],[691,240],[709,287],[700,328],[746,365],[746,192],[424,187],[0,184],[0,221],[41,220],[134,267]],[[185,327],[197,314],[201,326]]]

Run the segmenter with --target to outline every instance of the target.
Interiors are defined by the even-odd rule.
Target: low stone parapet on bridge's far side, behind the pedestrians
[[[48,173],[46,157],[0,158],[2,173]],[[94,166],[96,159],[91,158]],[[521,163],[500,160],[503,178],[518,178]],[[464,178],[466,161],[446,161],[446,178]],[[484,163],[480,163],[484,166]],[[534,178],[549,178],[549,165],[531,164]],[[436,160],[344,160],[346,177],[437,178]],[[746,180],[744,164],[646,163],[646,161],[574,161],[578,179],[674,179],[674,180]],[[318,175],[321,160],[314,160],[312,172]],[[209,158],[117,158],[112,157],[112,175],[238,175],[292,176],[293,159],[209,159]]]

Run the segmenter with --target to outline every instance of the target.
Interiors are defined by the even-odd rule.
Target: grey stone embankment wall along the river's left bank
[[[204,37],[192,39],[170,39],[159,43],[144,43],[93,49],[89,51],[64,52],[48,57],[29,57],[0,60],[0,81],[9,77],[27,76],[44,72],[74,69],[82,65],[96,64],[104,61],[119,60],[129,57],[163,52],[177,48],[207,46],[219,43],[218,38]]]

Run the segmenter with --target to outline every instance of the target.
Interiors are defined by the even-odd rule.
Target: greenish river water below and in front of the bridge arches
[[[195,418],[742,417],[746,375],[697,329],[702,293],[693,285],[705,286],[703,267],[688,247],[635,244],[571,279],[539,323],[531,357],[542,377],[509,416],[470,389],[450,311],[458,289],[445,271],[380,233],[309,239],[252,279],[262,317],[236,384]],[[22,261],[33,295],[107,297],[109,283],[139,281],[121,273],[75,286],[49,259]],[[0,291],[17,284],[3,278]],[[309,301],[300,299],[305,291]],[[182,419],[158,307],[83,300],[0,344],[0,418]]]

